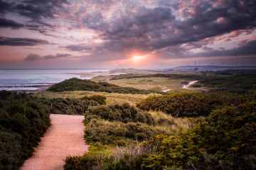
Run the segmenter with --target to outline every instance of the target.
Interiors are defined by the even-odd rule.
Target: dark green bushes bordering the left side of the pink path
[[[0,91],[0,169],[18,169],[50,125],[48,108],[27,94]]]

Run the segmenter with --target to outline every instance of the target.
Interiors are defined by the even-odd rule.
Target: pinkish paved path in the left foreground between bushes
[[[51,114],[50,128],[21,170],[63,169],[65,157],[84,154],[87,145],[83,140],[83,119],[82,115]]]

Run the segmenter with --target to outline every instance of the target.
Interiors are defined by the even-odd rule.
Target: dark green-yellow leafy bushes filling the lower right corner
[[[178,136],[160,137],[143,169],[255,169],[256,103],[213,111],[203,123]]]

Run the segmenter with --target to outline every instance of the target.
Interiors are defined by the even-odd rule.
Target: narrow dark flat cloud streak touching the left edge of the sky
[[[46,45],[49,44],[46,40],[34,38],[6,38],[0,36],[0,45],[10,46],[33,46],[33,45]]]

